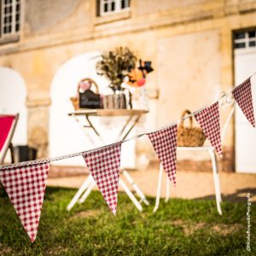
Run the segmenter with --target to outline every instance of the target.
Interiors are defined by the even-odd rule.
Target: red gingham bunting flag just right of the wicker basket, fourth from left
[[[212,144],[212,147],[222,156],[218,102],[215,102],[210,107],[204,108],[201,112],[195,113],[194,115],[202,131]]]

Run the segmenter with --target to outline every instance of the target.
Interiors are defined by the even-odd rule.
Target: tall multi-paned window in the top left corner
[[[20,32],[20,0],[1,0],[1,38]]]

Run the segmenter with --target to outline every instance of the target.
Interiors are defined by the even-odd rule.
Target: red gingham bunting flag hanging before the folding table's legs
[[[120,156],[121,143],[83,154],[86,166],[114,215],[118,200]]]

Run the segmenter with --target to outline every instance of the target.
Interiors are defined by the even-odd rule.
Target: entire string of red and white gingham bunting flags
[[[232,91],[241,111],[255,127],[251,89],[251,80],[249,78],[230,91]],[[224,96],[227,95],[228,93],[224,94]],[[195,119],[201,125],[201,129],[209,139],[212,147],[222,156],[218,102],[213,103],[207,108],[202,108],[195,113],[191,113],[191,115],[195,116]],[[183,119],[187,119],[191,115]],[[121,145],[144,135],[148,136],[161,165],[175,186],[177,122],[158,131],[141,133],[135,137],[124,139],[102,148],[44,160],[32,160],[19,164],[0,166],[0,181],[3,183],[3,187],[9,195],[9,199],[14,205],[21,224],[31,241],[35,241],[38,233],[38,224],[44,201],[45,183],[49,172],[49,162],[82,155],[104,200],[115,215],[118,201]]]

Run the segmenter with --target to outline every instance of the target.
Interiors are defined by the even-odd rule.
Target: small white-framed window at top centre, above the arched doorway
[[[100,0],[100,16],[120,13],[130,8],[130,0]]]

